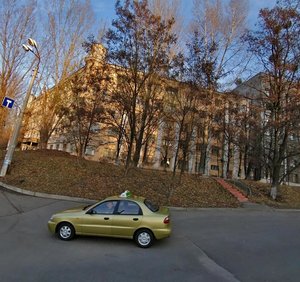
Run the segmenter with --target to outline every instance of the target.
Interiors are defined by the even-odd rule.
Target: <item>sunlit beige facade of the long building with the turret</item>
[[[103,47],[94,46],[91,54],[86,58],[86,65],[74,73],[70,79],[74,75],[80,75],[84,78],[85,74],[91,69],[97,70],[99,66],[103,64],[104,55],[105,50]],[[109,72],[110,77],[112,78],[109,82],[110,86],[108,89],[110,87],[116,87],[118,84],[118,74],[122,73],[122,70],[116,66],[110,65],[106,71]],[[178,103],[175,101],[176,99],[174,98],[174,95],[184,95],[184,91],[191,91],[187,89],[188,86],[177,81],[159,78],[157,79],[157,83],[160,84],[160,95],[164,96],[165,107],[170,109]],[[31,103],[32,118],[28,123],[27,132],[24,136],[24,142],[22,145],[23,149],[38,147],[40,142],[41,122],[42,119],[45,118],[45,116],[41,114],[40,109],[43,107],[43,99],[45,99],[45,95],[50,97],[51,93],[55,91],[55,87],[47,93],[43,93],[39,98]],[[65,91],[61,93],[61,95],[63,95],[65,97],[64,99],[67,101],[67,97],[72,95],[72,92]],[[241,154],[239,154],[238,148],[234,147],[232,142],[227,142],[226,138],[224,138],[221,133],[219,133],[219,138],[213,136],[214,134],[212,133],[212,129],[214,127],[220,127],[218,122],[213,121],[214,112],[216,112],[218,108],[221,107],[226,109],[224,105],[229,103],[228,101],[231,101],[230,103],[235,103],[236,107],[240,107],[243,103],[245,103],[245,101],[243,103],[240,102],[243,99],[232,94],[210,93],[209,95],[209,105],[207,102],[199,104],[199,108],[202,109],[203,113],[206,112],[206,114],[205,117],[193,123],[186,159],[181,159],[183,155],[181,150],[183,143],[182,138],[184,139],[182,136],[184,136],[184,134],[182,133],[180,140],[178,121],[176,121],[176,119],[170,121],[165,117],[161,117],[160,122],[157,124],[157,128],[151,135],[151,138],[149,138],[142,147],[140,166],[172,170],[175,163],[175,152],[179,146],[180,150],[177,159],[177,169],[184,166],[185,170],[190,173],[222,176],[222,171],[229,168],[228,173],[226,174],[228,177],[238,178],[244,175],[242,160],[240,160]],[[208,112],[209,115],[207,114]],[[229,123],[232,121],[232,118],[229,118],[229,115],[229,112],[222,115],[222,118],[225,119],[222,123]],[[125,121],[126,118],[127,117],[125,116]],[[187,117],[187,124],[189,123],[189,118],[191,119],[191,117]],[[219,129],[219,131],[221,132],[221,129]],[[68,129],[66,128],[64,128],[64,130],[54,130],[48,140],[47,149],[66,151],[70,154],[76,155],[78,152],[76,151],[75,143],[68,137],[70,136],[69,133],[70,132],[68,132]],[[93,161],[106,160],[115,162],[118,145],[117,135],[117,132],[107,126],[105,122],[94,124],[92,139],[86,147],[84,157]],[[119,162],[125,161],[126,154],[127,145],[123,139],[120,142]],[[206,155],[205,158],[203,157],[203,154]]]

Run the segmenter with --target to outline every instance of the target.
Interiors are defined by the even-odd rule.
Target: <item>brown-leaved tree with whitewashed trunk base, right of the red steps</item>
[[[298,1],[283,1],[283,3]],[[265,166],[272,180],[271,197],[298,165],[300,148],[293,142],[299,133],[299,27],[297,6],[262,9],[259,29],[247,36],[250,51],[263,66],[265,89],[257,97],[263,106],[261,128]],[[291,166],[286,163],[292,161]]]

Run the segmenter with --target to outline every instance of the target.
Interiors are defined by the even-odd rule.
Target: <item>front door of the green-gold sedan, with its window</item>
[[[80,229],[85,235],[109,236],[117,201],[105,201],[89,209],[80,220]]]

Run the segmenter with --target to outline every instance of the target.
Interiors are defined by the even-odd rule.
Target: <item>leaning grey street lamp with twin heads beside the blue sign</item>
[[[9,142],[8,142],[7,152],[6,152],[6,155],[5,155],[5,158],[4,158],[4,161],[3,161],[3,165],[2,165],[2,168],[1,168],[0,177],[4,177],[6,175],[6,172],[7,172],[8,168],[11,164],[12,156],[13,156],[13,153],[14,153],[16,145],[17,145],[18,136],[19,136],[19,133],[20,133],[21,125],[22,125],[23,115],[24,115],[24,112],[26,110],[27,103],[28,103],[28,100],[29,100],[29,97],[30,97],[30,94],[31,94],[31,91],[32,91],[33,83],[34,83],[34,80],[37,76],[38,69],[39,69],[39,64],[40,64],[40,53],[39,53],[39,50],[37,48],[37,44],[36,44],[35,40],[33,40],[32,38],[29,38],[28,39],[28,45],[23,44],[23,49],[26,52],[29,51],[29,52],[33,53],[34,56],[37,58],[38,62],[37,62],[37,65],[36,65],[35,69],[33,70],[33,75],[31,77],[31,80],[30,80],[30,83],[29,83],[29,86],[28,86],[28,89],[27,89],[27,92],[26,92],[26,95],[25,95],[25,99],[24,99],[23,104],[20,108],[20,113],[17,115],[15,125],[14,125],[14,129],[13,129],[13,133],[11,135],[11,138],[10,138]]]

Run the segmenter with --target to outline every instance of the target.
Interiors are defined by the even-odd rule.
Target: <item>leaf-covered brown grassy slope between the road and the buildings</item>
[[[1,165],[4,152],[0,151]],[[87,161],[52,150],[16,151],[9,173],[0,181],[35,192],[100,200],[130,190],[158,204],[174,207],[238,207],[238,201],[213,178],[184,174],[172,186],[171,173]],[[267,184],[248,181],[250,200],[280,208],[300,208],[300,187],[283,186],[277,201]]]

